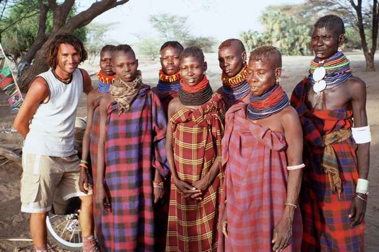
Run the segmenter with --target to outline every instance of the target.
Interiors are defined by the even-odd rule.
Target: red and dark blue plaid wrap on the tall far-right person
[[[302,251],[363,251],[364,223],[350,226],[349,210],[358,179],[356,144],[352,137],[331,144],[342,180],[341,199],[333,193],[328,175],[321,168],[322,138],[350,130],[352,111],[345,109],[310,110],[305,98],[307,79],[300,82],[291,97],[304,131],[304,177],[299,197],[303,217]]]

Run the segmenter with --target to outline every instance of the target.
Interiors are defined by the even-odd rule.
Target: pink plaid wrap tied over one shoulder
[[[222,165],[227,199],[228,239],[219,230],[218,251],[271,251],[273,230],[287,200],[287,142],[285,135],[246,118],[247,104],[238,103],[225,116]],[[292,242],[283,251],[299,251],[302,239],[300,210],[295,209]]]

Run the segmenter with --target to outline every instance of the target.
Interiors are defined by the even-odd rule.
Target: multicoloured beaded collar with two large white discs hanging
[[[309,66],[308,80],[314,92],[318,93],[337,87],[351,76],[353,74],[349,59],[342,52],[337,52],[324,60],[314,57]]]

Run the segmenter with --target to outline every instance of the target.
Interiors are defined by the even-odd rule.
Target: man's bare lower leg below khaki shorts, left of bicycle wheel
[[[46,215],[48,213],[32,213],[30,215],[30,233],[34,247],[38,251],[47,250],[48,231],[46,228]],[[45,249],[44,249],[45,247]]]

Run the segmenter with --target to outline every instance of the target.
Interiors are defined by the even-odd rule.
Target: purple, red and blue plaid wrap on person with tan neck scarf
[[[159,98],[144,85],[130,110],[108,107],[105,184],[112,212],[102,213],[106,250],[155,251],[153,185],[155,169],[169,168],[165,152],[166,118]]]

